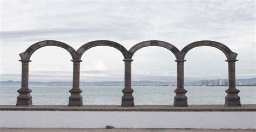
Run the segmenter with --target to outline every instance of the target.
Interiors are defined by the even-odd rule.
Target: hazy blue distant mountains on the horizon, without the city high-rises
[[[256,78],[250,79],[237,79],[237,83],[241,84],[255,84]],[[201,85],[201,80],[196,82],[185,82],[187,86],[192,85]],[[21,81],[1,81],[0,85],[2,86],[20,86]],[[30,86],[64,86],[72,85],[72,82],[29,82]],[[83,86],[123,86],[124,81],[104,81],[104,82],[80,82],[80,85]],[[138,80],[132,81],[133,86],[164,86],[164,85],[176,85],[176,82],[161,82],[161,81],[150,81],[150,80]]]

